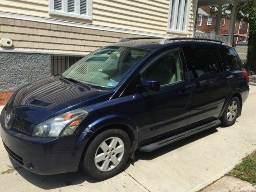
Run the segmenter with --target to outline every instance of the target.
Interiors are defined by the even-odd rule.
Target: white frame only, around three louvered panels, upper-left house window
[[[62,10],[55,10],[54,0],[49,0],[49,14],[92,20],[92,0],[86,1],[86,14],[80,14],[80,0],[75,1],[74,13],[68,12],[68,0],[62,0]]]

